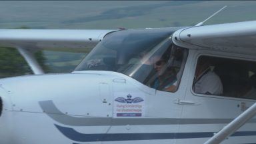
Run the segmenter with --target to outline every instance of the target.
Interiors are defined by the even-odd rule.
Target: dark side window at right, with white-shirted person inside
[[[256,99],[256,62],[201,56],[197,61],[193,91]]]

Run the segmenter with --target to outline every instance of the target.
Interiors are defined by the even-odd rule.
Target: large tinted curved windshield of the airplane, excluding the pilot
[[[75,71],[115,71],[154,87],[152,83],[159,73],[181,67],[181,48],[174,47],[171,42],[171,34],[175,30],[146,29],[110,33]]]

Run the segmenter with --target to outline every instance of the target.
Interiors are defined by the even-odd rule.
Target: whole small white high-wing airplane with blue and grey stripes
[[[0,79],[0,142],[256,143],[255,41],[256,21],[98,31],[1,29],[1,45],[17,47],[35,74],[43,71],[30,49],[99,43],[72,73]],[[194,77],[206,61],[204,72],[215,73],[221,83],[207,81],[201,93]]]

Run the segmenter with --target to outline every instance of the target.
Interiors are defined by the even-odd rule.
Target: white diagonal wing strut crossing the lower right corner
[[[216,144],[221,143],[224,139],[232,135],[237,129],[243,126],[247,121],[256,115],[256,103],[254,103],[249,109],[241,113],[237,118],[231,121],[228,125],[223,127],[221,131],[213,135],[211,139],[206,141],[204,144]]]

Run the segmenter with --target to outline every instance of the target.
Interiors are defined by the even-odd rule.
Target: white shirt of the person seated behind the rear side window
[[[208,71],[197,80],[194,85],[195,93],[221,95],[223,85],[219,76],[213,71]]]

